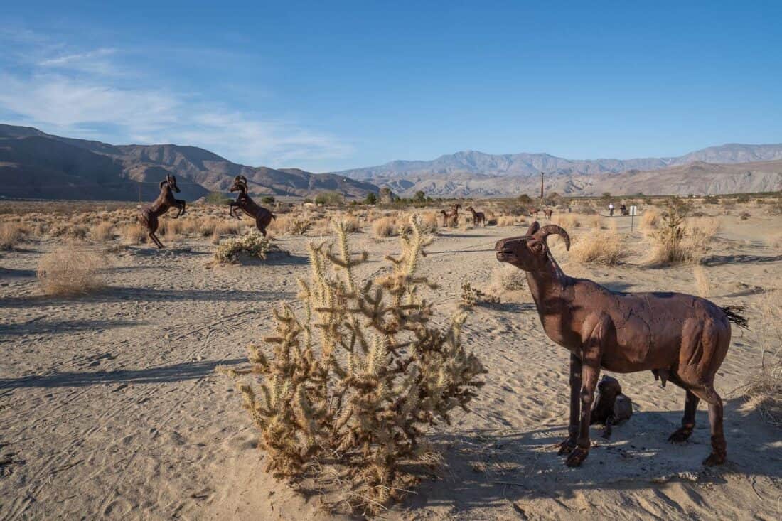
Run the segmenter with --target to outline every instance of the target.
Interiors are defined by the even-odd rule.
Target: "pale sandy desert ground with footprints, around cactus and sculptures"
[[[602,217],[609,221],[608,217]],[[752,315],[782,275],[782,217],[719,215],[705,273],[717,304]],[[616,267],[554,254],[569,275],[620,291],[697,293],[690,265],[648,268],[644,235],[615,218],[630,256]],[[422,270],[457,306],[465,278],[478,288],[497,269],[497,239],[526,226],[440,232]],[[570,229],[574,239],[590,228]],[[108,287],[86,296],[41,295],[35,272],[58,239],[22,243],[0,257],[0,518],[332,519],[263,472],[257,434],[234,383],[214,372],[239,366],[246,345],[271,325],[307,273],[310,236],[281,236],[291,256],[268,263],[209,265],[205,239],[163,239],[107,254]],[[370,253],[360,275],[385,268],[396,238],[368,228],[351,235]],[[105,250],[101,243],[76,249]],[[526,289],[473,308],[464,341],[488,368],[472,411],[457,413],[432,440],[447,468],[381,519],[780,519],[782,431],[762,422],[738,390],[760,364],[754,331],[734,328],[717,376],[726,400],[728,462],[705,468],[708,419],[687,444],[666,441],[679,426],[683,391],[651,373],[618,375],[636,406],[579,469],[551,444],[565,437],[568,353],[543,334]],[[752,323],[751,323],[752,325]]]

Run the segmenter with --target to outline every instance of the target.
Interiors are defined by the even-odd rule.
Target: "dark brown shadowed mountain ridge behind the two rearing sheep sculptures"
[[[62,138],[36,128],[0,124],[0,196],[40,199],[142,200],[154,198],[167,173],[185,199],[225,192],[236,175],[250,192],[311,196],[334,191],[364,197],[378,192],[365,181],[296,168],[274,170],[231,163],[209,150],[178,145],[109,145]]]

